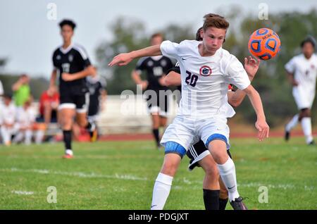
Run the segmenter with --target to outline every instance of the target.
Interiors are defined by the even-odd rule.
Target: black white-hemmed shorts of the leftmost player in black
[[[89,92],[85,87],[70,87],[60,89],[60,105],[63,108],[76,109],[77,113],[87,113],[89,106]]]

